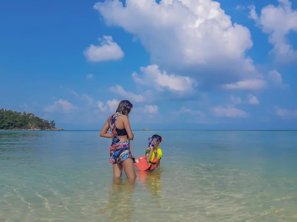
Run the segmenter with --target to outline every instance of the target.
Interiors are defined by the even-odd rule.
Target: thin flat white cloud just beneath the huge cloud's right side
[[[238,81],[237,83],[225,84],[224,89],[244,89],[244,90],[259,90],[267,87],[267,83],[262,79],[250,79]]]

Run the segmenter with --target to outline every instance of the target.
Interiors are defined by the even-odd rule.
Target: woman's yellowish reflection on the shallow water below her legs
[[[107,217],[109,222],[131,221],[133,215],[132,195],[135,183],[127,179],[114,178],[109,191],[109,201],[100,209],[100,213]]]

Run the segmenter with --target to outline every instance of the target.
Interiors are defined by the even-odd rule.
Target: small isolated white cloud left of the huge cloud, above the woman
[[[98,39],[100,45],[91,44],[85,51],[84,55],[92,62],[102,62],[109,60],[119,60],[124,57],[121,47],[113,42],[111,36],[103,36]]]

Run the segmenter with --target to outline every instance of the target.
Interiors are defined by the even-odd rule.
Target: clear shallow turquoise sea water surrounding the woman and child
[[[112,181],[96,131],[0,132],[0,222],[296,222],[297,132],[159,133],[161,169]]]

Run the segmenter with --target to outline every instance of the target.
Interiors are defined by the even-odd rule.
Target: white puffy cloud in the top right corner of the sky
[[[263,33],[269,35],[268,42],[274,45],[271,53],[283,62],[297,60],[297,51],[287,38],[292,31],[297,32],[297,9],[292,9],[289,0],[278,0],[279,5],[269,4],[261,9],[260,17],[255,6],[250,5],[249,17],[253,19]]]

